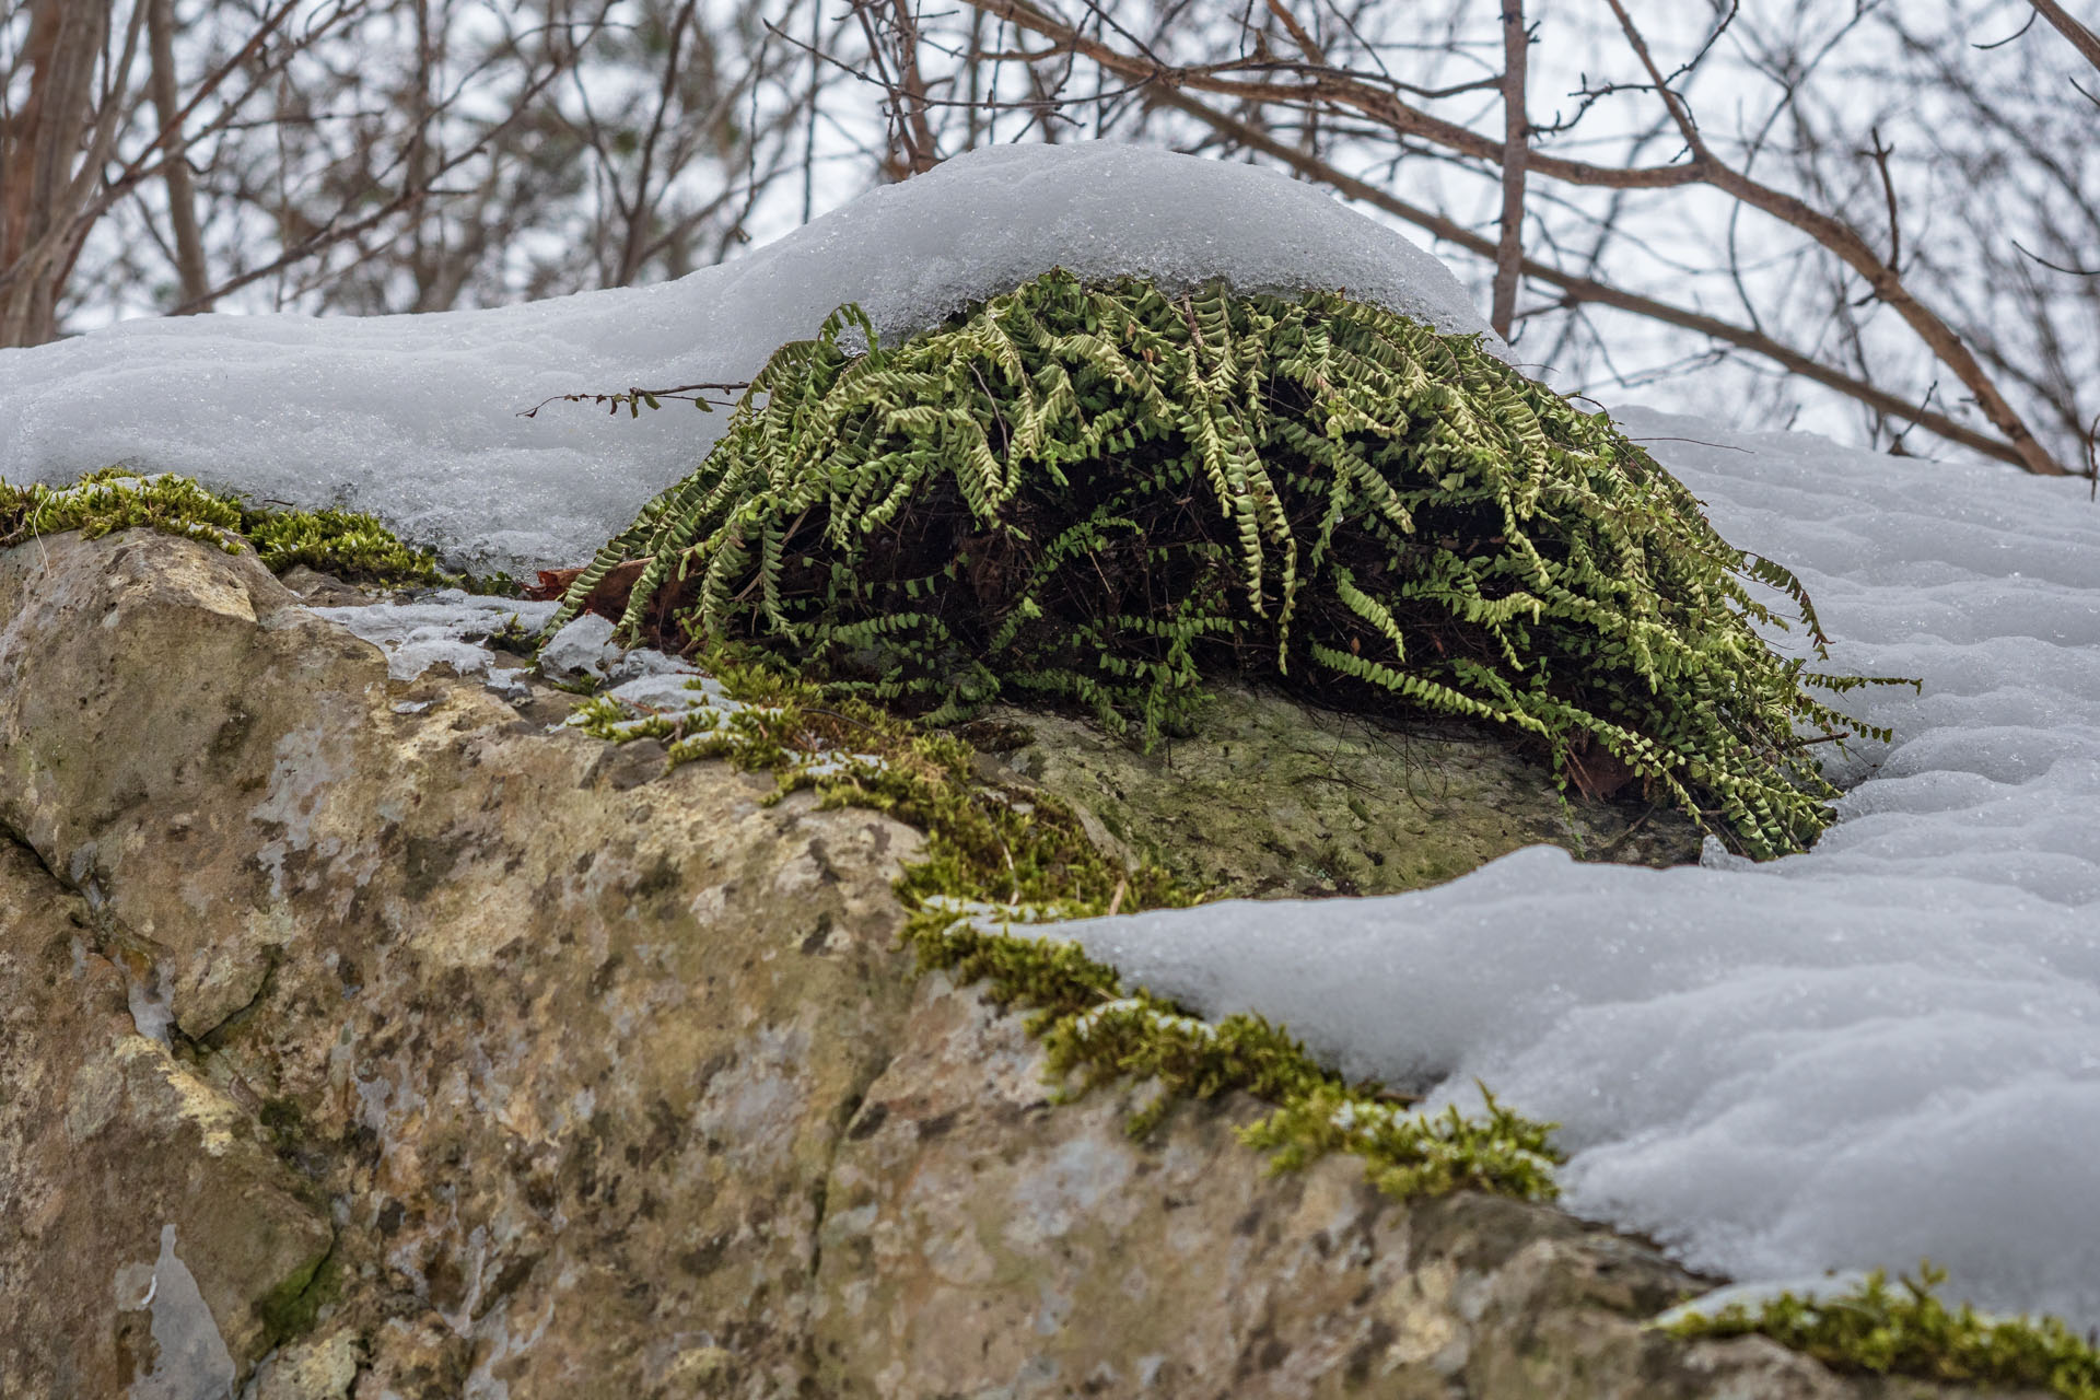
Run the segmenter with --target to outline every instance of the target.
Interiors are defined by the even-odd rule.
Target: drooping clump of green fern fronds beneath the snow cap
[[[1823,655],[1793,575],[1604,416],[1338,294],[1054,271],[895,348],[842,306],[556,623],[636,560],[628,636],[754,640],[932,722],[1033,693],[1149,743],[1205,672],[1283,674],[1512,726],[1562,781],[1611,754],[1756,856],[1831,821],[1806,743],[1875,733],[1808,695],[1863,678],[1754,630],[1787,619],[1751,581]]]

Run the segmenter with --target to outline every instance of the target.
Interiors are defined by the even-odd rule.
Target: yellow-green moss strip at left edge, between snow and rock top
[[[504,575],[445,573],[437,554],[403,544],[378,516],[357,510],[275,510],[208,491],[189,476],[124,466],[88,472],[69,487],[0,481],[0,548],[69,529],[97,539],[134,527],[206,539],[229,554],[252,548],[271,573],[304,565],[359,584],[519,592]]]

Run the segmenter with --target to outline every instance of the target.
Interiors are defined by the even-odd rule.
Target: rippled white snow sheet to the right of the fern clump
[[[1953,1272],[2100,1322],[2100,508],[2085,483],[1634,411],[1808,586],[1844,705],[1816,848],[1067,924],[1134,984],[1260,1010],[1350,1075],[1558,1121],[1567,1205],[1737,1278]]]

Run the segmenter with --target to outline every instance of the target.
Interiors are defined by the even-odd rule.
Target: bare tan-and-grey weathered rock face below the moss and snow
[[[1844,1396],[1554,1209],[1052,1106],[920,848],[160,535],[0,554],[0,1396]]]

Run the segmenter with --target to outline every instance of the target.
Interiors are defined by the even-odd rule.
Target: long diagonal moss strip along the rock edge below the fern
[[[985,980],[993,999],[1025,1010],[1067,1096],[1124,1077],[1157,1081],[1161,1091],[1130,1117],[1130,1131],[1142,1136],[1178,1102],[1250,1094],[1270,1112],[1241,1138],[1268,1150],[1279,1171],[1350,1152],[1394,1196],[1460,1188],[1533,1201],[1556,1194],[1552,1125],[1493,1100],[1480,1119],[1455,1108],[1409,1112],[1403,1096],[1378,1083],[1346,1083],[1260,1016],[1203,1022],[1166,997],[1126,987],[1073,942],[1014,932],[1052,919],[1186,907],[1203,892],[1159,867],[1117,865],[1054,798],[983,781],[974,751],[956,735],[830,697],[764,653],[720,651],[710,670],[741,709],[632,718],[611,697],[598,697],[578,709],[578,724],[611,741],[662,739],[672,764],[724,758],[769,770],[779,779],[773,800],[813,789],[827,808],[872,808],[924,831],[924,858],[897,882],[909,909],[905,947],[922,970]]]

